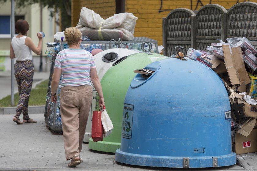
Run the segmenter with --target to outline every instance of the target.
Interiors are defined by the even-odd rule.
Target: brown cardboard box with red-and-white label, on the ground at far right
[[[239,133],[235,133],[235,143],[232,151],[236,154],[253,153],[257,151],[257,129],[253,129],[246,137]]]

